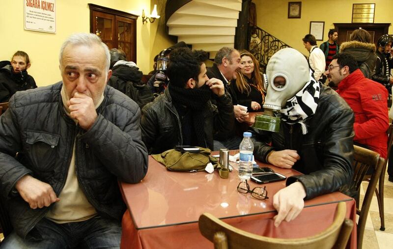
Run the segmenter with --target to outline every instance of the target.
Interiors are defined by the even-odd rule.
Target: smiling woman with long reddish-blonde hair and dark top
[[[233,80],[230,87],[238,103],[246,106],[248,111],[263,111],[266,89],[259,72],[259,62],[248,51],[241,51],[240,58],[243,68],[237,72],[236,81]]]

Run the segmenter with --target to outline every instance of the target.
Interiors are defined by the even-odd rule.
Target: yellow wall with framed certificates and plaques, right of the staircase
[[[352,22],[353,3],[375,3],[374,23],[392,23],[392,0],[302,0],[300,19],[288,19],[288,0],[253,0],[257,25],[294,49],[308,54],[302,38],[309,33],[310,21],[325,22],[323,39],[328,40],[333,23]],[[393,33],[392,26],[389,33]],[[323,41],[317,41],[318,46]]]

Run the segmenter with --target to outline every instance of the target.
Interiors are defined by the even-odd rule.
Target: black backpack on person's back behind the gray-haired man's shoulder
[[[126,83],[126,91],[124,93],[132,100],[134,100],[140,109],[149,102],[152,102],[154,97],[150,88],[142,82],[128,81]]]

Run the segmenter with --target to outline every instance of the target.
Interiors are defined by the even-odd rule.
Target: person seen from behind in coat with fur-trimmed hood
[[[349,41],[340,45],[340,53],[348,53],[355,57],[358,62],[359,69],[367,79],[371,79],[374,74],[376,47],[371,43],[371,36],[367,30],[363,28],[355,29]]]

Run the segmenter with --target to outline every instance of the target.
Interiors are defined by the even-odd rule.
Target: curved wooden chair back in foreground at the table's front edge
[[[346,204],[337,205],[333,223],[323,232],[301,239],[277,239],[252,234],[211,214],[199,217],[199,231],[214,243],[215,249],[343,249],[353,228],[353,221],[345,219]]]

